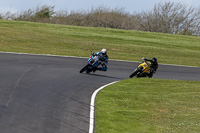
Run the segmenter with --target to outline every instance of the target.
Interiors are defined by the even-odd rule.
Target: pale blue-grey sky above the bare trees
[[[60,10],[90,10],[105,6],[109,8],[124,8],[129,13],[151,10],[159,2],[179,2],[195,8],[200,7],[200,0],[0,0],[0,12],[21,12],[35,9],[38,5],[55,6]]]

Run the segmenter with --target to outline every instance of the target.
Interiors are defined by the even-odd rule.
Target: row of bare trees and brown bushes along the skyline
[[[150,11],[134,14],[107,7],[68,13],[44,5],[19,13],[0,13],[0,19],[200,35],[200,8],[174,2],[158,3]]]

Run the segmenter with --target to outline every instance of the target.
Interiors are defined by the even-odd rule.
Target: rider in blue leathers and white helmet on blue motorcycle
[[[100,52],[94,53],[92,51],[91,53],[92,56],[100,56],[100,60],[101,60],[101,67],[97,67],[96,70],[100,70],[100,71],[107,71],[107,65],[108,65],[108,55],[107,55],[107,50],[106,49],[102,49]],[[95,72],[96,70],[93,70],[93,72]]]

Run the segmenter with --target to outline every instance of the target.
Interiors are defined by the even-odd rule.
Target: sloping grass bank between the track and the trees
[[[200,66],[200,37],[0,20],[0,51],[88,57],[108,49],[110,59]]]

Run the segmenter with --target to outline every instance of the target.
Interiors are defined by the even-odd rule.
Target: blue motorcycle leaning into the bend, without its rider
[[[83,73],[86,71],[86,73],[95,72],[97,70],[97,67],[101,65],[101,55],[94,55],[90,56],[88,59],[86,65],[80,70],[80,73]]]

